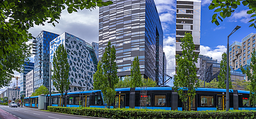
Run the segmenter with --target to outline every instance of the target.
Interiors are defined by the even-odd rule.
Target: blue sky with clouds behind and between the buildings
[[[202,55],[207,55],[215,59],[221,60],[221,54],[226,52],[227,35],[237,26],[241,28],[230,36],[229,44],[233,41],[240,41],[249,33],[255,33],[255,29],[249,28],[250,15],[246,14],[246,7],[239,6],[238,9],[219,26],[211,23],[211,16],[214,10],[208,10],[210,0],[202,0],[201,4],[201,47]],[[174,0],[155,0],[162,28],[164,30],[164,52],[167,58],[167,69],[175,69],[175,30],[176,30],[176,1]],[[241,4],[242,5],[242,4]],[[50,23],[45,23],[45,26],[34,26],[29,30],[34,37],[36,37],[41,30],[46,30],[56,34],[63,32],[71,33],[87,42],[98,42],[98,11],[82,10],[77,13],[69,14],[67,10],[63,10],[59,23],[55,23],[53,27]],[[28,43],[32,43],[29,41]],[[30,59],[33,62],[34,56]],[[174,70],[167,70],[167,74],[174,75]],[[19,76],[19,73],[15,73]],[[15,80],[13,80],[15,82]],[[172,85],[172,81],[168,83]],[[11,84],[13,85],[13,83]],[[0,89],[1,91],[5,88]]]

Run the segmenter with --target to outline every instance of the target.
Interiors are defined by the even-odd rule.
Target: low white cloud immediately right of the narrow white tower
[[[208,46],[200,45],[200,55],[206,55],[221,61],[221,55],[227,51],[227,47],[224,45],[218,45],[216,49],[211,49]]]

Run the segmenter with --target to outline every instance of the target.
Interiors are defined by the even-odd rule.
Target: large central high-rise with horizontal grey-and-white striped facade
[[[144,78],[162,82],[163,30],[153,0],[114,0],[100,7],[99,60],[108,41],[116,48],[120,80],[131,75],[131,64],[138,56]]]

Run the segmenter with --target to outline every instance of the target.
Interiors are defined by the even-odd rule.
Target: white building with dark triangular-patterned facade
[[[97,71],[98,64],[94,46],[72,34],[62,33],[50,43],[51,62],[60,44],[65,46],[68,53],[69,81],[71,82],[69,90],[92,90],[93,74]]]

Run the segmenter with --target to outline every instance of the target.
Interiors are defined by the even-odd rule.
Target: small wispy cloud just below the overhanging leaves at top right
[[[247,23],[250,20],[250,14],[247,14],[248,10],[241,10],[241,11],[236,11],[232,13],[232,16],[229,18],[229,21],[231,22],[237,22],[241,21],[244,23]]]

